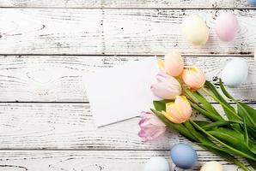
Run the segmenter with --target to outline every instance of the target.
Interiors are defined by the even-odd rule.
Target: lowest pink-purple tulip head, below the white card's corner
[[[165,125],[154,114],[142,112],[140,117],[141,121],[138,125],[141,130],[138,136],[143,139],[143,142],[151,141],[166,131]]]

